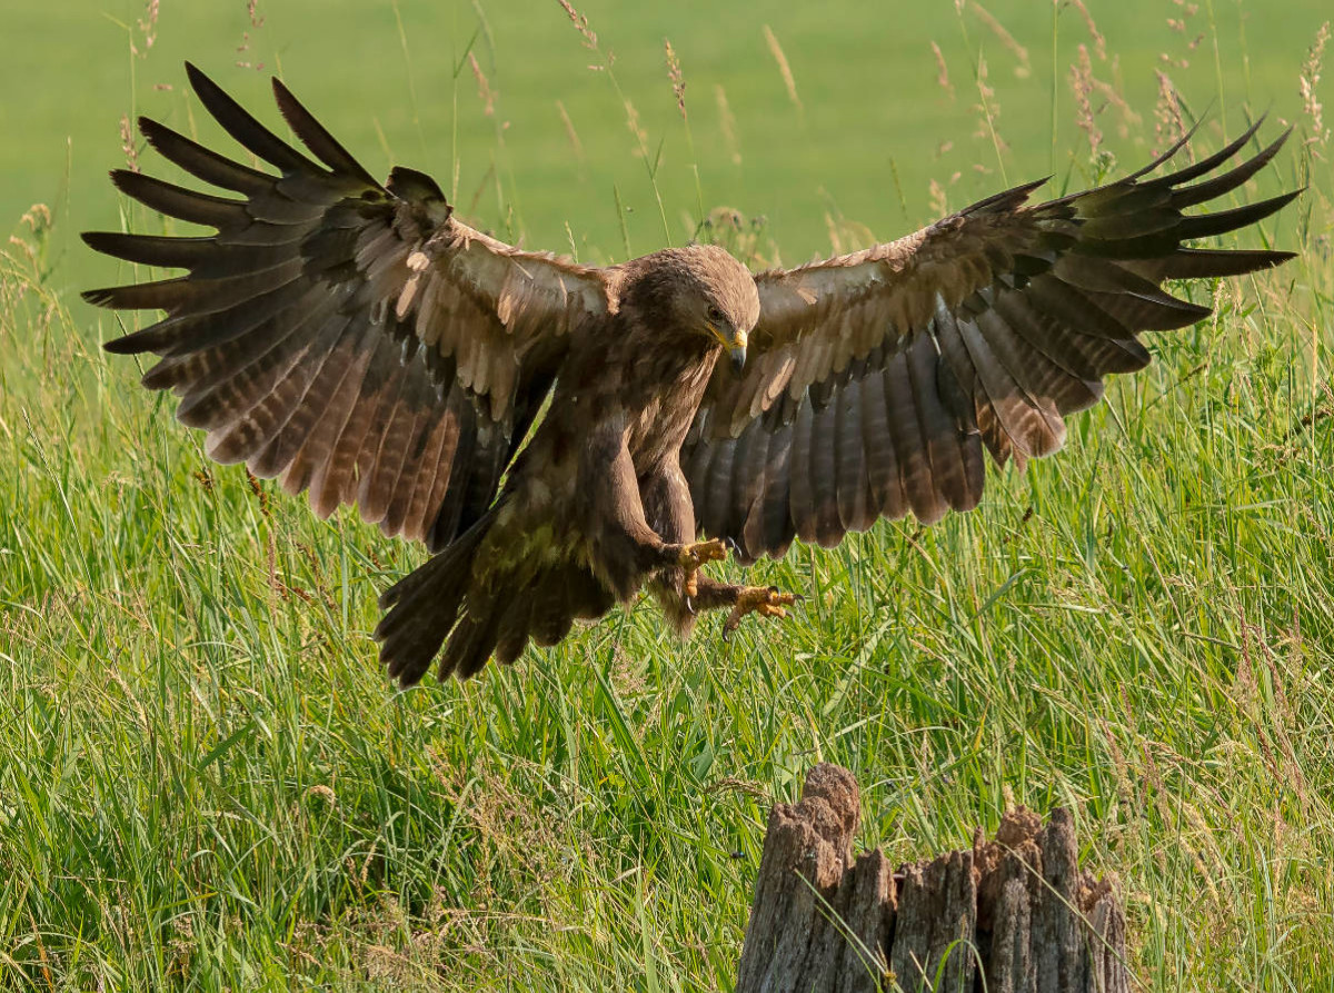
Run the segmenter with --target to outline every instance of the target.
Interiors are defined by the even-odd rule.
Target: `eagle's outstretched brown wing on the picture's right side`
[[[1201,179],[1258,127],[1158,179],[1146,176],[1185,139],[1097,190],[1026,206],[1041,183],[1017,187],[891,244],[756,276],[744,372],[719,366],[682,452],[702,533],[754,559],[794,535],[836,545],[880,517],[932,523],[976,506],[983,444],[998,463],[1057,451],[1065,415],[1097,403],[1106,374],[1149,363],[1138,331],[1210,312],[1163,292],[1165,279],[1291,258],[1183,244],[1297,195],[1185,214],[1274,156],[1286,133]]]

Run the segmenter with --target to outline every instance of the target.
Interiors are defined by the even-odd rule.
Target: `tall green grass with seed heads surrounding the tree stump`
[[[1230,44],[1209,12],[1191,59]],[[1074,15],[1000,20],[1037,61],[1083,31]],[[472,33],[475,17],[451,16]],[[548,44],[587,61],[562,17]],[[984,53],[991,80],[1003,64],[967,17],[944,45],[958,101],[980,99],[970,63]],[[615,24],[592,21],[604,44]],[[802,87],[814,56],[775,37]],[[692,47],[674,45],[690,84]],[[459,101],[475,99],[463,48]],[[1295,89],[1302,52],[1282,55]],[[930,92],[930,49],[918,57]],[[1034,72],[1018,97],[988,97],[999,133],[1035,127],[1058,174],[1095,176],[1107,160],[1067,65]],[[743,128],[759,111],[730,96]],[[799,96],[807,120],[826,107]],[[1147,148],[1153,99],[1131,104],[1125,137],[1114,105],[1094,123],[1123,153]],[[1253,111],[1234,92],[1214,120],[1235,131]],[[964,116],[960,148],[1018,171],[1006,156],[1029,152],[986,160]],[[730,989],[767,807],[819,759],[855,771],[862,844],[892,858],[966,844],[1013,803],[1073,807],[1081,857],[1121,880],[1146,989],[1331,988],[1334,145],[1305,144],[1310,113],[1289,116],[1293,151],[1246,196],[1310,184],[1263,232],[1301,258],[1193,287],[1215,318],[1154,336],[1150,370],[1075,418],[1059,456],[994,474],[976,513],[759,566],[808,601],[730,643],[716,623],[666,641],[644,605],[407,694],[368,631],[376,593],[422,551],[211,466],[169,398],[97,351],[116,327],[67,307],[60,287],[88,279],[57,259],[71,219],[33,214],[0,259],[0,988]],[[623,119],[603,127],[635,140]],[[503,164],[503,132],[490,140],[460,141],[460,160]],[[682,195],[664,175],[668,223],[698,212],[694,183]],[[954,206],[972,182],[938,180]],[[503,227],[511,180],[495,191]],[[655,212],[643,188],[624,195]],[[743,254],[782,247],[714,219]],[[827,230],[864,234],[832,206]]]

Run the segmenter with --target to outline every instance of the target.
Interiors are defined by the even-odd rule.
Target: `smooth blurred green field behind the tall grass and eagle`
[[[1206,133],[1214,139],[1225,124],[1243,120],[1243,108],[1297,119],[1297,71],[1329,16],[1323,0],[1285,0],[1281,13],[1234,0],[1191,8],[1198,9],[1187,16],[1173,0],[1095,3],[1091,12],[1106,39],[1101,60],[1078,9],[1065,7],[1053,24],[1050,5],[1018,0],[986,8],[1013,35],[1009,45],[975,9],[959,16],[947,0],[580,5],[604,52],[614,55],[616,80],[638,111],[650,157],[659,161],[671,239],[688,236],[702,199],[706,210],[726,204],[766,218],[790,260],[827,252],[827,214],[855,220],[880,239],[915,227],[932,215],[932,179],[955,207],[992,191],[1002,166],[1011,182],[1047,174],[1059,182],[1071,172],[1078,182],[1087,144],[1081,148],[1074,127],[1069,69],[1079,44],[1093,49],[1095,75],[1119,80],[1133,111],[1146,117],[1143,128],[1122,137],[1119,115],[1114,108],[1106,113],[1109,147],[1125,161],[1155,147],[1157,68],[1170,75],[1191,109],[1211,111]],[[488,228],[536,246],[572,240],[582,256],[620,259],[616,188],[630,211],[631,251],[662,244],[663,226],[626,111],[606,72],[588,69],[599,59],[580,44],[555,0],[400,0],[396,8],[380,0],[358,4],[355,16],[332,17],[327,9],[319,0],[260,3],[263,24],[256,28],[241,0],[168,0],[145,48],[137,27],[144,4],[137,0],[15,5],[7,12],[9,53],[0,67],[7,136],[0,143],[0,219],[8,227],[29,204],[51,204],[68,219],[56,239],[57,284],[80,283],[84,274],[107,276],[107,264],[69,239],[79,228],[117,223],[104,174],[124,164],[121,116],[149,113],[187,131],[197,124],[207,136],[217,133],[211,121],[195,120],[185,99],[180,63],[191,59],[269,121],[277,115],[268,76],[280,69],[371,172],[384,175],[395,163],[432,172],[456,191],[460,210]],[[1169,19],[1181,28],[1169,27]],[[791,67],[800,107],[788,96],[766,25]],[[694,153],[667,80],[664,39],[682,60]],[[932,41],[952,96],[936,84]],[[133,57],[132,44],[145,57]],[[245,51],[236,51],[243,44]],[[468,52],[496,93],[490,117]],[[988,105],[998,115],[996,131],[1009,145],[999,161],[990,135],[975,135],[979,60],[994,89]],[[735,117],[735,140],[726,136],[719,87]],[[451,180],[455,168],[458,179]]]

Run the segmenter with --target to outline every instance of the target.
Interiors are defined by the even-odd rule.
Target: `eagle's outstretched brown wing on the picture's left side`
[[[185,68],[208,112],[279,175],[140,120],[163,156],[240,199],[112,172],[140,203],[217,234],[84,235],[127,262],[188,270],[84,294],[167,312],[105,347],[161,356],[144,386],[180,395],[177,416],[208,431],[212,458],[281,474],[320,515],[356,501],[386,534],[443,547],[492,501],[571,330],[606,312],[602,274],[459,223],[426,175],[396,168],[382,186],[276,79],[319,163]]]

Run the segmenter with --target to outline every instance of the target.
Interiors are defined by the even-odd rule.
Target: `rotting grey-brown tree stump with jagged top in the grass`
[[[854,860],[859,818],[856,779],[827,762],[774,805],[736,993],[1129,993],[1125,914],[1079,872],[1067,810],[1043,828],[1021,807],[994,841],[898,869]]]

